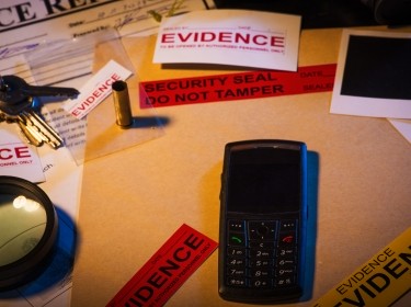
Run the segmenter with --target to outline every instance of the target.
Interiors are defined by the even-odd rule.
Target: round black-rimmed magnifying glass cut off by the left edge
[[[15,288],[42,272],[57,229],[56,211],[41,187],[0,175],[0,291]]]

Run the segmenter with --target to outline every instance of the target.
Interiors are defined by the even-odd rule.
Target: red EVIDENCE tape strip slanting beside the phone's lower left
[[[106,306],[164,305],[217,246],[183,224]]]

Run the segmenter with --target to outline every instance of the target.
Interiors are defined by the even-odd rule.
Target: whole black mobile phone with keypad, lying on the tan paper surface
[[[243,140],[225,148],[218,291],[240,303],[298,300],[304,293],[307,147]]]

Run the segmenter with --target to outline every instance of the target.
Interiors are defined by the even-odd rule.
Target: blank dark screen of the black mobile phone
[[[300,204],[300,152],[251,148],[231,152],[228,212],[297,212]]]

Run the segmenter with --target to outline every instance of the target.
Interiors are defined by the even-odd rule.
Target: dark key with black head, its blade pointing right
[[[0,77],[0,111],[18,115],[31,106],[35,96],[76,98],[79,91],[73,88],[30,86],[24,79],[8,75]]]

